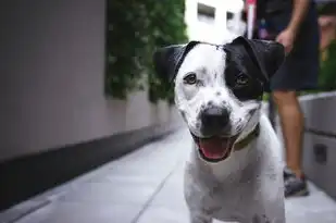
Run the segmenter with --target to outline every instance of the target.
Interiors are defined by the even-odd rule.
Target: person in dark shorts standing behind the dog
[[[316,5],[313,0],[257,0],[257,20],[264,20],[269,35],[286,51],[284,64],[271,79],[286,150],[285,197],[307,196],[309,189],[301,163],[303,114],[298,95],[318,86]]]

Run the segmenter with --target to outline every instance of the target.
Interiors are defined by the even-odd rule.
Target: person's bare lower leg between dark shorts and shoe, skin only
[[[301,153],[303,114],[296,91],[273,92],[274,102],[277,106],[284,143],[286,147],[287,166],[298,176],[302,177]]]

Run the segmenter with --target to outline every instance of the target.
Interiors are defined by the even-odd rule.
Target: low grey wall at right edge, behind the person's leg
[[[307,177],[336,199],[336,91],[300,97],[304,114],[302,164]],[[276,117],[278,122],[278,116]],[[277,133],[282,138],[281,127]]]

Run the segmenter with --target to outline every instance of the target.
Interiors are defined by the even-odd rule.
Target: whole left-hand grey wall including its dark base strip
[[[146,91],[104,96],[104,0],[0,2],[0,210],[178,127]]]

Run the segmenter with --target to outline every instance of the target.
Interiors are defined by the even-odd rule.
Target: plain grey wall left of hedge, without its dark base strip
[[[0,161],[178,119],[144,91],[104,97],[104,7],[1,1]]]

